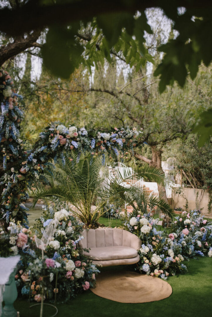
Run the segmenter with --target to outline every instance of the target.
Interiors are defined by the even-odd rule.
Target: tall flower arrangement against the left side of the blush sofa
[[[61,209],[61,206],[65,208]],[[67,210],[68,206],[54,201],[50,206],[43,206],[43,216],[37,220],[35,229],[39,237],[52,219],[57,218],[59,224],[53,240],[45,250],[44,260],[42,261],[38,256],[27,268],[32,274],[31,297],[36,301],[41,299],[39,294],[42,288],[47,290],[46,297],[51,299],[56,292],[58,301],[66,302],[75,297],[78,292],[88,290],[95,285],[95,274],[99,270],[94,264],[87,262],[77,246],[82,239],[83,223],[79,223],[75,217],[70,216]],[[39,249],[37,249],[38,253],[40,253]],[[24,285],[22,293],[25,292]]]

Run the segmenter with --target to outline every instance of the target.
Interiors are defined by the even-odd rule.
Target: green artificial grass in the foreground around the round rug
[[[211,317],[212,315],[212,258],[198,257],[185,262],[188,267],[187,274],[171,276],[168,278],[173,292],[169,298],[142,304],[123,304],[96,296],[90,291],[83,292],[70,301],[69,304],[58,304],[58,317]],[[101,270],[123,269],[125,266],[102,268]],[[127,269],[133,269],[133,266]],[[26,300],[17,300],[15,308],[21,317],[39,316],[39,306],[28,309]],[[48,314],[49,313],[49,314]],[[43,316],[53,313],[49,307]]]

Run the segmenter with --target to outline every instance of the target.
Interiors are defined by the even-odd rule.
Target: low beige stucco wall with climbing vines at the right
[[[203,214],[209,214],[208,211],[208,201],[209,194],[206,189],[196,189],[196,188],[181,188],[181,194],[175,193],[175,189],[172,189],[172,207],[182,207],[185,208],[186,197],[188,199],[188,210],[201,209]],[[198,192],[198,198],[197,197]],[[212,212],[211,212],[212,214]]]

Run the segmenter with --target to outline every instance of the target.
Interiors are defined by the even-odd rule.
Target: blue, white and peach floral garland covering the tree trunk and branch
[[[123,159],[128,151],[141,143],[142,131],[136,128],[114,128],[111,131],[99,132],[86,130],[76,126],[65,127],[61,124],[51,124],[40,133],[34,148],[26,151],[24,142],[20,139],[20,123],[23,120],[22,97],[16,94],[13,81],[6,71],[0,72],[0,156],[3,161],[4,175],[0,185],[3,187],[0,219],[9,223],[11,218],[27,223],[28,208],[23,204],[28,198],[27,188],[32,188],[34,182],[44,180],[44,168],[48,170],[50,162],[57,159],[65,162],[65,154],[77,152],[78,158],[82,152],[90,152],[93,157],[105,155],[109,158],[120,155]]]

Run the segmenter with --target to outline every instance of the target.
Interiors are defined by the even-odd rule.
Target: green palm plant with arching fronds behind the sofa
[[[108,202],[113,202],[116,197],[124,199],[135,209],[143,210],[143,207],[147,205],[155,205],[172,217],[173,211],[164,201],[158,197],[151,197],[143,188],[139,189],[136,186],[126,188],[123,183],[125,179],[146,176],[163,184],[162,171],[149,166],[137,168],[133,176],[129,175],[128,171],[121,176],[117,171],[113,182],[107,184],[105,179],[100,177],[102,164],[98,158],[93,158],[90,154],[82,154],[78,163],[76,160],[76,156],[73,161],[66,157],[65,165],[57,164],[56,168],[52,169],[52,176],[48,175],[51,185],[49,189],[38,187],[34,192],[30,192],[35,199],[33,206],[38,199],[58,197],[62,201],[69,202],[71,212],[88,227],[96,225],[98,218],[107,211],[103,211],[103,206]],[[93,206],[94,201],[95,207]]]

